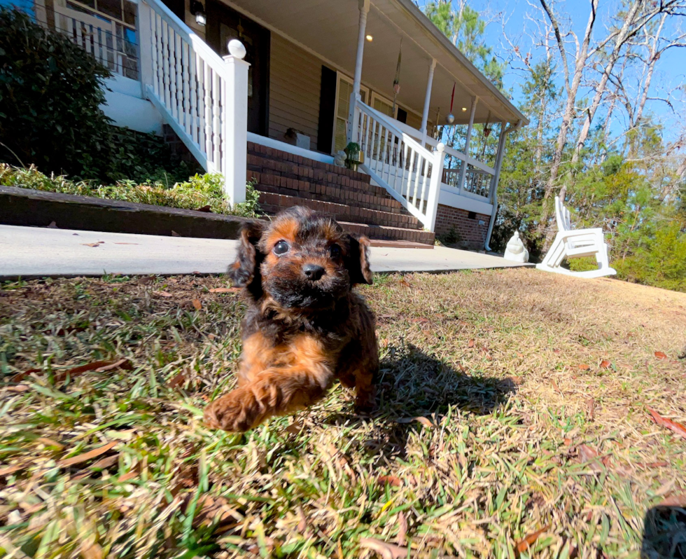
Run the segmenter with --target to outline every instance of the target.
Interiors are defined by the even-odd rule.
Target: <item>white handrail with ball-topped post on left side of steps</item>
[[[207,172],[245,200],[248,67],[245,48],[222,59],[160,0],[138,4],[141,88]]]

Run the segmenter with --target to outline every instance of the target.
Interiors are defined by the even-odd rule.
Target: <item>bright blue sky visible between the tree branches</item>
[[[550,2],[549,4],[552,4]],[[608,22],[610,13],[617,11],[619,8],[619,1],[617,0],[601,0],[598,7],[598,19],[594,29],[594,38],[599,39],[605,36],[606,22]],[[505,19],[505,33],[510,36],[510,39],[519,44],[524,51],[531,49],[531,37],[527,36],[536,34],[536,20],[543,20],[545,14],[537,8],[540,6],[538,0],[531,0],[531,4],[527,1],[521,0],[473,0],[469,3],[470,7],[483,13],[486,17],[495,18],[495,20],[486,27],[486,41],[495,51],[496,55],[504,60],[512,59],[512,52],[509,44],[503,37],[503,18]],[[568,26],[576,32],[580,38],[584,34],[587,25],[590,1],[568,0],[559,1],[554,6],[554,10],[559,18],[559,23],[562,27]],[[680,25],[686,27],[686,18]],[[675,29],[675,22],[673,22],[672,29]],[[555,46],[556,47],[556,46]],[[575,46],[570,43],[568,46],[568,56],[573,53]],[[542,57],[543,50],[532,51],[533,60]],[[557,55],[557,53],[556,53]],[[570,58],[570,64],[572,64]],[[686,84],[686,48],[671,48],[661,58],[658,63],[657,70],[654,74],[651,84],[651,96],[664,96],[665,92],[673,88]],[[512,60],[512,66],[521,67],[519,60]],[[515,101],[521,99],[521,76],[523,74],[514,71],[512,67],[507,69],[505,76],[505,88],[511,90]],[[560,81],[560,85],[562,82]],[[585,90],[589,92],[590,90]],[[649,102],[646,106],[646,111],[654,114],[665,125],[665,134],[669,136],[670,130],[673,130],[674,124],[682,119],[685,106],[683,101],[684,95],[677,95],[676,99],[681,99],[681,103],[674,104],[675,112],[663,102]],[[604,111],[603,111],[604,112]],[[618,118],[624,118],[623,111],[615,111]],[[615,127],[622,127],[623,120],[617,121]],[[672,125],[670,127],[670,125]]]

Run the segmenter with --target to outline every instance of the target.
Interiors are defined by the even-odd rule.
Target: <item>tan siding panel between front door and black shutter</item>
[[[316,149],[321,60],[272,33],[269,74],[269,137],[293,144],[284,134],[295,128]]]

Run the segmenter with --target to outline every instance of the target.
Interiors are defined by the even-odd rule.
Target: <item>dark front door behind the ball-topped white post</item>
[[[246,48],[248,69],[248,132],[267,135],[269,114],[269,29],[216,1],[207,1],[207,43],[228,55],[228,42],[238,39]]]

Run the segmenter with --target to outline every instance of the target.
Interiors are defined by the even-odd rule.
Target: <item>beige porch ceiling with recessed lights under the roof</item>
[[[358,0],[223,0],[248,18],[313,50],[326,62],[352,76],[358,35]],[[372,90],[393,97],[395,64],[402,36],[402,65],[398,102],[421,114],[430,60],[437,66],[429,120],[440,111],[439,123],[450,108],[453,84],[456,123],[467,123],[472,95],[479,97],[475,122],[514,123],[528,119],[436,29],[412,0],[372,0],[367,17],[362,81]],[[465,111],[462,108],[465,107]]]

